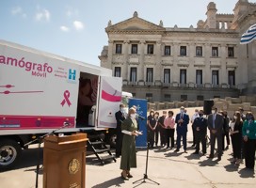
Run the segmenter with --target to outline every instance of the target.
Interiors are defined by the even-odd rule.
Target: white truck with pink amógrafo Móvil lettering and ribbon
[[[115,128],[121,85],[111,70],[0,40],[0,168],[63,125],[57,133]]]

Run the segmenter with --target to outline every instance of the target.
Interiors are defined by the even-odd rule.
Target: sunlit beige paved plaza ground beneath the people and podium
[[[178,110],[178,109],[177,109]],[[177,110],[174,110],[175,113]],[[194,109],[188,108],[188,114],[193,114]],[[160,114],[161,115],[161,114]],[[217,158],[208,159],[207,155],[202,156],[192,154],[191,126],[188,131],[188,149],[184,153],[174,152],[174,149],[155,148],[149,150],[148,178],[160,183],[157,185],[151,180],[143,179],[146,164],[146,149],[137,150],[137,168],[132,169],[134,178],[130,180],[120,179],[120,158],[117,163],[100,165],[95,155],[87,157],[86,165],[86,187],[87,188],[107,188],[107,187],[205,187],[205,188],[255,188],[255,172],[245,169],[245,164],[235,165],[231,163],[232,146],[224,152],[222,160],[217,162]],[[209,154],[210,148],[207,149]],[[42,154],[42,152],[41,152]],[[0,187],[2,188],[32,188],[35,187],[35,165],[37,149],[29,149],[24,152],[23,163],[17,169],[0,172]],[[42,187],[42,173],[40,172],[39,187]]]

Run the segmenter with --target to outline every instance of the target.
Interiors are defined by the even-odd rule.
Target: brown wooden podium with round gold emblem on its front
[[[43,188],[86,187],[86,133],[44,138]]]

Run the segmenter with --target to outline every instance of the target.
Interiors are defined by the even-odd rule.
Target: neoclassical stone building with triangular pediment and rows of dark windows
[[[251,94],[256,86],[256,46],[241,35],[256,23],[256,5],[239,0],[233,14],[209,3],[197,27],[164,27],[133,17],[109,21],[101,66],[122,77],[123,90],[151,102],[195,101]]]

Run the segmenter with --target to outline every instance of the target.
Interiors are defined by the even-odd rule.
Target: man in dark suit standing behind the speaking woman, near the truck
[[[125,119],[125,112],[123,110],[124,105],[120,104],[120,111],[116,112],[115,117],[117,119],[117,144],[116,144],[116,157],[120,157],[121,145],[122,145],[122,133],[121,122]]]

